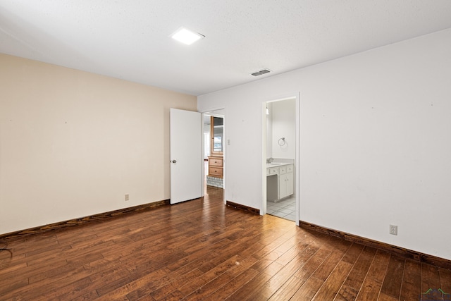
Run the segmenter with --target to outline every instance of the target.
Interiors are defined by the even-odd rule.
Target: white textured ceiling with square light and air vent
[[[450,0],[0,0],[1,53],[194,95],[450,27]]]

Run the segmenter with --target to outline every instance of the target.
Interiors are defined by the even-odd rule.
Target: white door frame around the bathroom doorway
[[[262,136],[262,143],[261,143],[261,183],[262,183],[262,215],[266,214],[266,105],[270,102],[280,102],[283,100],[288,99],[295,99],[295,113],[296,113],[296,122],[295,122],[295,199],[296,199],[296,207],[295,207],[295,223],[296,226],[299,226],[299,208],[300,208],[300,92],[294,92],[294,93],[288,93],[279,95],[277,97],[268,97],[267,99],[264,99],[261,105],[261,120],[262,120],[262,127],[261,127],[261,136]]]

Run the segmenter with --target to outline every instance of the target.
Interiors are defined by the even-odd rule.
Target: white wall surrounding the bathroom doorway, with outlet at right
[[[198,97],[227,110],[226,199],[262,209],[262,103],[300,92],[300,219],[451,259],[450,53],[444,30]]]

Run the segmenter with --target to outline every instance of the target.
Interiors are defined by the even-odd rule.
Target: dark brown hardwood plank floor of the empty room
[[[449,270],[227,208],[218,188],[8,247],[0,300],[451,300]]]

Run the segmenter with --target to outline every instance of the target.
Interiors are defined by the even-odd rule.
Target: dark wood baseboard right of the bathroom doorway
[[[337,238],[342,238],[344,240],[350,241],[350,242],[356,242],[361,245],[367,245],[369,247],[374,247],[379,250],[400,254],[404,257],[408,257],[410,259],[414,259],[418,262],[424,262],[426,264],[433,264],[435,266],[440,266],[445,269],[451,269],[451,260],[435,257],[433,255],[424,254],[421,252],[412,251],[409,249],[405,249],[403,247],[397,247],[395,245],[390,245],[385,242],[379,242],[377,240],[371,240],[369,238],[362,238],[358,235],[353,235],[350,233],[345,233],[342,231],[333,230],[330,228],[322,227],[315,225],[314,223],[307,223],[305,221],[299,221],[299,226],[306,229],[311,229],[313,231],[327,234],[330,236],[335,236]]]

